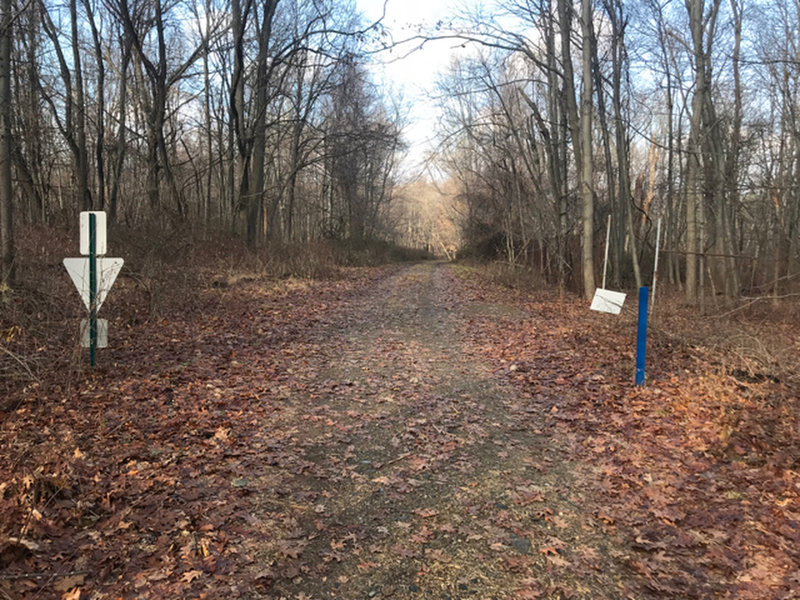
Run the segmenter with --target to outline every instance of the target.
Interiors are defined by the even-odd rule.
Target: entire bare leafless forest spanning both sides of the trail
[[[96,209],[251,246],[458,243],[590,295],[610,216],[617,286],[647,279],[661,220],[663,275],[688,302],[791,292],[794,3],[526,0],[411,34],[332,0],[12,1],[3,15],[4,281],[15,226]],[[470,51],[430,100],[448,215],[425,222],[403,186],[426,175],[398,169],[408,107],[370,64],[437,39]]]

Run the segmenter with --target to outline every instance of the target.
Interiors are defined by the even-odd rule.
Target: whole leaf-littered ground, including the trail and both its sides
[[[0,560],[86,572],[8,595],[788,593],[794,446],[745,400],[733,414],[711,375],[632,390],[602,362],[627,360],[626,322],[595,335],[578,304],[422,269],[225,292],[155,349],[130,340],[125,373],[4,417]]]

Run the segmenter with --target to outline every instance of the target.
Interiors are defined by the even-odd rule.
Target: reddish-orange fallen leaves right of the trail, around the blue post
[[[488,288],[484,296],[496,297]],[[648,358],[657,357],[649,365],[652,384],[633,388],[624,365],[630,364],[629,347],[635,336],[621,335],[626,328],[635,330],[633,321],[616,319],[611,327],[583,304],[556,310],[547,300],[522,303],[535,315],[530,329],[537,335],[530,335],[525,326],[488,320],[477,324],[475,335],[497,367],[506,361],[525,365],[525,373],[496,371],[522,397],[512,408],[515,415],[549,430],[554,439],[569,440],[573,460],[597,465],[581,475],[582,485],[593,490],[596,519],[584,527],[625,536],[634,556],[650,557],[631,564],[646,565],[642,573],[647,577],[682,581],[690,594],[696,589],[706,590],[700,595],[712,593],[708,589],[737,595],[727,590],[739,589],[741,597],[753,598],[759,593],[778,597],[779,589],[788,593],[786,574],[796,569],[800,556],[789,542],[794,530],[786,529],[788,537],[782,534],[783,521],[775,513],[791,510],[792,503],[785,500],[798,499],[800,477],[778,481],[770,462],[785,465],[789,455],[795,460],[800,455],[800,436],[784,426],[792,419],[796,422],[798,401],[789,399],[786,388],[766,382],[761,384],[761,403],[752,401],[749,388],[743,393],[741,385],[732,384],[713,366],[708,348],[694,348],[688,354],[692,364],[687,364],[687,355],[681,355],[680,344],[675,343],[678,329],[664,344],[659,324],[648,340],[655,347],[653,354],[648,348]],[[570,325],[557,329],[557,323],[566,321]],[[795,417],[788,417],[792,412]],[[778,414],[789,421],[781,423]],[[780,467],[777,472],[782,472]],[[758,499],[752,493],[756,487],[765,491]],[[513,500],[522,506],[519,493]],[[771,505],[779,510],[771,514]],[[752,520],[742,519],[744,513]],[[561,517],[550,520],[569,530]],[[645,531],[642,523],[654,527]],[[725,542],[706,541],[709,532],[726,527]],[[757,549],[764,545],[770,548],[766,556],[777,561],[773,568],[784,583],[770,580],[758,569],[752,581],[733,577],[742,572],[746,557],[755,560]],[[564,566],[561,561],[568,555],[554,554],[547,545],[542,548],[549,562],[553,559],[554,566]],[[584,546],[575,554],[590,568],[602,568],[590,550]],[[743,583],[751,586],[749,591],[737,588]],[[664,584],[664,589],[679,587]]]

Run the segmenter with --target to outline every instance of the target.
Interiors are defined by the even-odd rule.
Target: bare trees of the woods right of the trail
[[[590,295],[608,215],[617,285],[649,280],[660,219],[687,302],[788,293],[794,3],[511,2],[457,27],[482,48],[439,86],[466,239]]]

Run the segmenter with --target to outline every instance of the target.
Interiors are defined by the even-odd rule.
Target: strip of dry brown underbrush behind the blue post
[[[559,300],[557,288],[526,269],[461,263],[457,272],[503,286],[509,300],[550,322],[566,317],[569,326],[560,335],[572,340],[576,356],[589,360],[598,376],[632,384],[638,307],[631,290],[615,316],[590,311],[575,294]],[[721,455],[738,458],[747,449],[761,461],[800,468],[800,304],[742,299],[716,306],[711,300],[700,314],[662,284],[651,309],[645,393],[673,395],[692,421],[706,424],[703,435]]]

